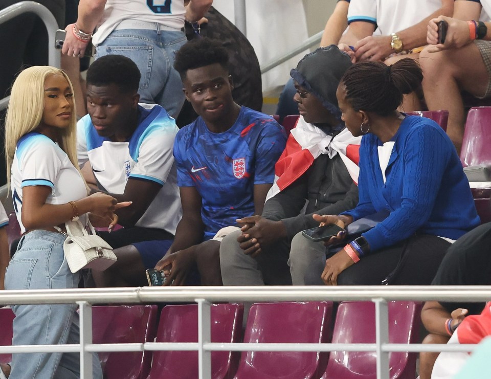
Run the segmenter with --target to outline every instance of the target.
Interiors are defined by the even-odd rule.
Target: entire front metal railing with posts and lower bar
[[[387,301],[488,301],[491,286],[264,286],[135,287],[2,291],[0,304],[65,304],[80,306],[80,344],[0,346],[7,352],[80,352],[81,378],[92,379],[94,351],[197,350],[199,378],[211,378],[211,351],[375,351],[377,378],[389,378],[391,351],[472,351],[475,345],[391,344]],[[211,302],[373,301],[376,342],[369,344],[211,343]],[[93,344],[92,307],[101,303],[197,302],[197,343]]]

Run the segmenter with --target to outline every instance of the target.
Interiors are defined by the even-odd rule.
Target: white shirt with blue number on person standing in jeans
[[[184,28],[184,0],[107,0],[92,42],[104,41],[122,20],[158,23],[166,28]]]

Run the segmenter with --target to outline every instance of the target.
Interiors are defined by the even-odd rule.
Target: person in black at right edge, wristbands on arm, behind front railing
[[[491,284],[491,222],[464,234],[441,261],[432,285]],[[479,315],[484,303],[427,301],[421,321],[429,335],[423,343],[447,343],[459,323],[468,315]],[[430,379],[438,352],[419,353],[420,379]]]

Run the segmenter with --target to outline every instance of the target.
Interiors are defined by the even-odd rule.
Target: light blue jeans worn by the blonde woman
[[[72,274],[63,254],[65,236],[34,230],[20,239],[7,267],[6,289],[77,288],[80,274]],[[12,345],[78,344],[76,304],[13,305]],[[102,378],[97,353],[94,379]],[[10,379],[80,378],[79,353],[14,353]]]

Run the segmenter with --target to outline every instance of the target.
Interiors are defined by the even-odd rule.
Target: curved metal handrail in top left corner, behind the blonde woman
[[[0,11],[0,25],[23,13],[35,13],[38,15],[48,31],[48,63],[50,66],[60,67],[60,52],[54,47],[55,34],[58,23],[55,16],[45,6],[36,2],[19,2]],[[4,52],[8,54],[9,52]],[[0,94],[3,96],[4,94]],[[0,99],[0,110],[7,108],[10,96]]]

